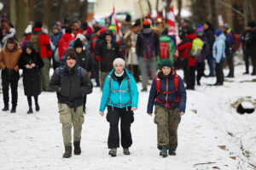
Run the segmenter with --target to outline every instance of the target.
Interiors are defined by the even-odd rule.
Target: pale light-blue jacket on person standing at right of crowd
[[[225,40],[226,37],[224,36],[224,34],[221,34],[216,38],[215,42],[213,43],[212,56],[215,59],[216,63],[219,63],[226,58]]]

